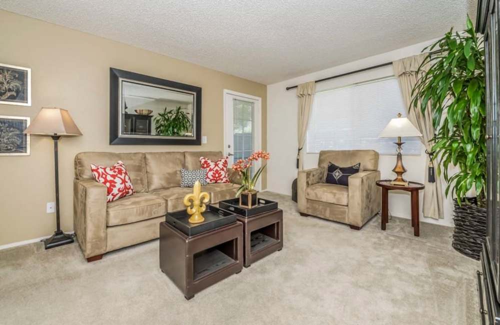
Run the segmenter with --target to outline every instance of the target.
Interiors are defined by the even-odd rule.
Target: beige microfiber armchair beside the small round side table
[[[325,183],[328,162],[338,166],[361,163],[349,176],[349,186]],[[301,170],[297,180],[297,204],[301,215],[347,223],[359,230],[380,210],[378,152],[374,150],[327,150],[319,152],[317,168]]]

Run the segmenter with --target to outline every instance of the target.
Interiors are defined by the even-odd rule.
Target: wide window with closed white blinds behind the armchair
[[[380,154],[395,154],[392,142],[396,139],[378,134],[399,112],[406,115],[395,77],[318,91],[307,129],[307,152],[374,149]],[[402,140],[403,154],[420,154],[418,137]]]

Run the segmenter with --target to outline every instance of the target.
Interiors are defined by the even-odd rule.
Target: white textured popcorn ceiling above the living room
[[[0,0],[0,8],[265,84],[462,29],[477,0]]]

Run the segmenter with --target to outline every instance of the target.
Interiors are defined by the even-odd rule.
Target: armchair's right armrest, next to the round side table
[[[376,181],[380,171],[360,171],[349,176],[347,223],[362,226],[380,211],[381,193]]]

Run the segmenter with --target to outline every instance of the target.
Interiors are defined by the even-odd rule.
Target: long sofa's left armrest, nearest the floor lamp
[[[73,181],[73,227],[85,258],[107,249],[106,186],[93,179]]]

